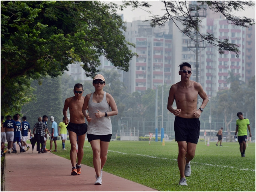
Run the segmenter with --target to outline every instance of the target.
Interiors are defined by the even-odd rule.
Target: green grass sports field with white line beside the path
[[[47,142],[47,148],[49,148]],[[222,147],[199,142],[191,161],[188,186],[179,186],[177,142],[111,141],[104,171],[160,191],[255,191],[255,143],[248,143],[246,157],[241,157],[238,143]],[[69,158],[58,141],[56,155]],[[90,143],[85,141],[82,164],[93,167]],[[70,165],[71,166],[71,165]]]

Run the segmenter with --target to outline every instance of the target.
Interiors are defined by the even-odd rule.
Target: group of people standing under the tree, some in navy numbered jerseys
[[[22,122],[19,119],[20,114],[15,114],[13,118],[8,115],[6,116],[5,122],[3,122],[4,117],[1,116],[1,155],[4,152],[17,153],[16,142],[20,146],[20,152],[26,152],[29,150],[29,146],[26,141],[31,139],[34,136],[35,142],[37,142],[37,151],[38,153],[51,152],[53,142],[55,144],[55,150],[57,151],[57,137],[61,136],[62,139],[62,149],[65,149],[65,141],[67,140],[67,125],[63,122],[59,123],[59,126],[54,121],[54,117],[50,117],[50,121],[52,122],[52,134],[48,130],[48,117],[46,115],[42,117],[38,117],[38,122],[34,125],[33,133],[31,133],[30,124],[27,122],[27,117],[22,117]],[[50,138],[50,149],[46,149],[46,141],[47,134],[51,136]],[[8,145],[5,146],[5,141],[7,141]],[[41,148],[40,148],[41,144]],[[24,147],[26,146],[26,150]],[[5,150],[7,148],[7,150]]]

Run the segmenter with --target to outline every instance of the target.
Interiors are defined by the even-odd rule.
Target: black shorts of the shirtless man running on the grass
[[[198,118],[187,119],[175,117],[174,120],[175,141],[198,143],[200,135],[200,120]]]

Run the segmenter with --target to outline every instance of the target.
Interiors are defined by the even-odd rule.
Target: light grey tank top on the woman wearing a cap
[[[87,133],[94,135],[108,135],[112,134],[112,124],[110,120],[110,116],[97,118],[94,113],[101,112],[109,112],[110,106],[108,105],[106,99],[106,91],[104,91],[103,100],[100,103],[93,102],[93,93],[91,93],[91,97],[88,102],[88,112],[91,117],[91,122],[88,122]]]

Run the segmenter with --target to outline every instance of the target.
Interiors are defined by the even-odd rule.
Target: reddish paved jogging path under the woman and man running
[[[81,175],[71,175],[70,160],[54,152],[38,154],[36,146],[5,155],[4,191],[157,191],[103,171],[102,185],[94,185],[94,168],[81,164]],[[25,147],[26,148],[26,147]]]

